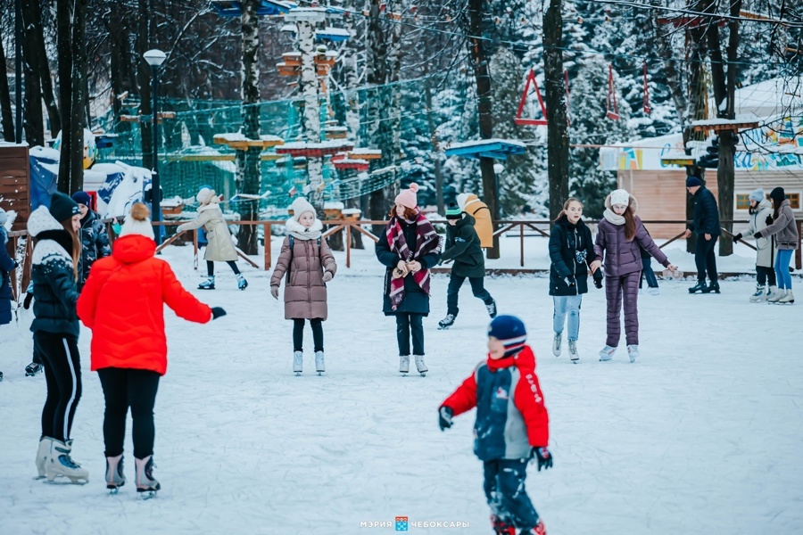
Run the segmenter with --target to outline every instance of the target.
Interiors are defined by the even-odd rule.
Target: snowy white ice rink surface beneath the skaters
[[[201,273],[191,254],[169,248],[165,258],[194,288]],[[410,531],[489,533],[473,413],[447,432],[436,416],[484,358],[482,303],[466,284],[457,324],[437,331],[448,279],[435,277],[430,373],[401,377],[393,318],[380,312],[381,268],[357,261],[368,251],[355,253],[352,270],[336,254],[322,377],[291,373],[291,324],[269,296],[269,273],[248,268],[250,286],[237,292],[219,266],[219,290],[194,290],[228,310],[211,324],[168,312],[170,366],[155,411],[164,490],[149,501],[132,485],[130,421],[128,485],[117,496],[104,489],[103,396],[89,372],[89,331],[79,342],[84,397],[72,435],[90,483],[33,480],[45,381],[22,372],[29,313],[0,327],[0,533],[389,533],[360,522],[397,515],[470,525]],[[691,257],[670,259],[693,267]],[[749,278],[725,281],[722,295],[690,296],[689,282],[664,282],[659,296],[640,297],[642,358],[631,365],[623,340],[614,360],[600,363],[604,297],[592,287],[574,366],[565,353],[551,355],[545,277],[486,285],[502,313],[525,320],[538,356],[555,466],[531,469],[527,487],[551,535],[803,531],[803,307],[751,305]],[[310,369],[310,333],[307,341]]]

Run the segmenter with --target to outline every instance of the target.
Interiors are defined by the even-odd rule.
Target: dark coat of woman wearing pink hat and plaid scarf
[[[402,220],[402,232],[404,233],[404,239],[407,241],[407,246],[410,248],[410,251],[415,251],[416,244],[418,243],[416,228],[417,225],[415,223],[407,224]],[[391,305],[390,301],[390,281],[393,275],[393,268],[396,267],[399,260],[402,258],[394,251],[391,251],[390,245],[387,243],[387,232],[383,232],[379,235],[376,252],[379,262],[387,268],[385,269],[385,294],[383,296],[382,306],[382,311],[385,312],[385,316],[395,316],[397,312],[423,314],[427,316],[429,314],[429,296],[421,290],[421,287],[416,284],[411,276],[404,277],[404,300],[402,300],[402,304],[393,310],[393,305]],[[421,263],[421,268],[429,269],[434,268],[440,258],[440,251],[434,251],[427,254],[423,259],[418,259],[418,261]]]

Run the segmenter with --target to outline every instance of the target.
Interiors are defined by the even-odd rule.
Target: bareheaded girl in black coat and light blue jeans
[[[585,226],[583,203],[574,197],[563,203],[550,235],[550,295],[552,312],[552,354],[560,356],[564,326],[568,316],[568,351],[577,362],[577,339],[580,334],[580,306],[588,292],[588,267],[594,259],[591,230]],[[595,282],[601,281],[602,270],[594,271]],[[600,286],[601,287],[601,286]]]

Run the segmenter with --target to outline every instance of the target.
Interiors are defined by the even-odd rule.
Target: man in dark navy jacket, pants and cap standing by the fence
[[[697,264],[697,284],[689,288],[689,293],[719,293],[718,276],[716,275],[716,238],[722,235],[719,225],[719,210],[716,208],[714,193],[702,184],[698,177],[686,178],[686,191],[694,197],[694,212],[691,225],[683,236],[688,238],[692,232],[697,233],[697,250],[694,251],[694,263]],[[706,274],[710,284],[706,285]]]

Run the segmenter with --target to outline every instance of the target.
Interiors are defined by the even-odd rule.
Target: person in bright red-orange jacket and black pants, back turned
[[[196,323],[226,314],[195,299],[170,264],[154,257],[156,242],[148,216],[145,204],[131,207],[112,256],[95,262],[78,300],[79,317],[92,329],[92,371],[100,377],[105,400],[106,487],[116,491],[126,482],[123,442],[130,407],[135,481],[145,498],[161,489],[153,477],[153,406],[159,379],[167,371],[164,305]]]

